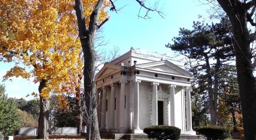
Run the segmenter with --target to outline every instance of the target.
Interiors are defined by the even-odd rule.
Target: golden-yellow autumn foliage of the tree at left
[[[96,2],[83,0],[87,25]],[[0,4],[0,61],[17,64],[4,80],[12,76],[33,77],[35,83],[47,80],[40,93],[44,98],[50,92],[76,93],[83,62],[74,0],[1,0]],[[99,22],[107,18],[108,6],[105,0]]]

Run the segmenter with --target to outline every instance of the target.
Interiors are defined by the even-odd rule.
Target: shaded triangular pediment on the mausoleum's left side
[[[96,74],[96,78],[109,75],[115,72],[116,70],[119,70],[120,68],[121,67],[119,65],[106,63],[104,64],[102,69],[99,71],[99,73]]]

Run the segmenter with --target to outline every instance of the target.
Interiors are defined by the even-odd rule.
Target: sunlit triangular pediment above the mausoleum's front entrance
[[[193,77],[192,73],[189,73],[188,71],[173,64],[172,62],[170,62],[168,60],[150,62],[150,63],[145,63],[145,64],[138,64],[138,65],[136,65],[136,67],[140,67],[140,68],[147,69],[147,70],[164,72],[164,73],[173,73],[173,74],[177,74],[177,75]]]

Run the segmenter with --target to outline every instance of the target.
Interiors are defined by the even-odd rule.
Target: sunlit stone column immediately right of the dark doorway
[[[176,85],[170,85],[170,126],[175,126],[175,87]]]

